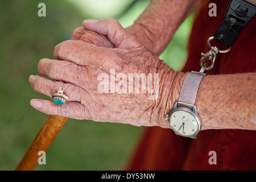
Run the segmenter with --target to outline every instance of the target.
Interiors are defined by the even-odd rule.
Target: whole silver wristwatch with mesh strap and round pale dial
[[[177,135],[195,139],[201,129],[195,102],[199,85],[205,75],[207,74],[194,71],[188,73],[181,87],[179,100],[171,113],[166,115],[166,121]]]

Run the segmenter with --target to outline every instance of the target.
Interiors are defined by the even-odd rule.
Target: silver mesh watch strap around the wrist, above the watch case
[[[187,105],[190,107],[195,105],[197,91],[201,80],[205,75],[207,74],[194,71],[188,73],[181,87],[180,97],[177,104]]]

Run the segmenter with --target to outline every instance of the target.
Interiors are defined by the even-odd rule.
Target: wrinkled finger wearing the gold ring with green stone
[[[52,97],[53,93],[56,93],[60,85],[63,84],[61,81],[51,81],[44,77],[31,75],[28,78],[32,88],[40,94]],[[81,87],[73,84],[64,84],[63,93],[68,97],[68,101],[78,101],[81,102],[81,95],[84,93]]]

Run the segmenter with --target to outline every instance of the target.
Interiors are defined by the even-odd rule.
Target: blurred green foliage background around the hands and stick
[[[38,4],[46,4],[46,17]],[[115,18],[130,26],[149,0],[1,0],[0,1],[0,170],[14,170],[47,118],[30,106],[32,98],[49,100],[32,89],[38,61],[53,59],[56,44],[71,38],[84,19]],[[193,15],[180,26],[160,56],[180,70]],[[36,170],[122,170],[143,131],[117,123],[68,119]]]

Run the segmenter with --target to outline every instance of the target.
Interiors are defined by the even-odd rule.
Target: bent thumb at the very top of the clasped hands
[[[82,26],[84,26],[85,29],[95,31],[98,34],[106,35],[117,48],[134,48],[137,46],[137,43],[131,42],[133,37],[113,18],[84,20]]]

